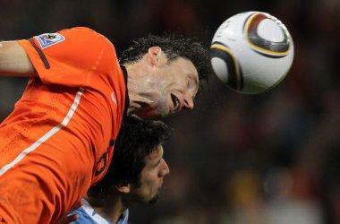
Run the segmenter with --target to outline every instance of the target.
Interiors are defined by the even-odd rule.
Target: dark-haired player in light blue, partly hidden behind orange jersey
[[[171,131],[160,121],[128,116],[115,142],[114,157],[105,177],[89,189],[83,205],[69,216],[72,223],[127,224],[134,203],[154,203],[169,168],[163,142]]]

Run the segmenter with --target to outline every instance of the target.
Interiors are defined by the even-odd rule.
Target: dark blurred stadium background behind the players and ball
[[[166,118],[171,174],[143,224],[340,223],[339,0],[0,0],[0,39],[89,26],[118,51],[149,32],[196,36],[208,47],[228,17],[263,11],[285,23],[295,57],[285,81],[259,95],[212,75],[193,111]],[[27,80],[0,78],[0,121]]]

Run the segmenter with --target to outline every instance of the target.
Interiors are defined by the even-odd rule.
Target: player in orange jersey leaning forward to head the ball
[[[0,74],[30,76],[0,125],[0,222],[55,223],[106,173],[125,114],[192,109],[209,73],[191,39],[138,39],[122,54],[89,28],[0,42]]]

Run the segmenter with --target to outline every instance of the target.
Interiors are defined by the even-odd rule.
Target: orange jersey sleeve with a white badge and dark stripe
[[[85,27],[45,33],[19,40],[45,84],[91,87],[117,64],[115,47],[103,35]]]

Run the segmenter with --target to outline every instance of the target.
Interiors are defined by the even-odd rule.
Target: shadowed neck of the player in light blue
[[[121,196],[110,195],[106,200],[98,200],[96,198],[87,198],[92,208],[106,220],[117,223],[120,216],[127,208],[123,205]]]

